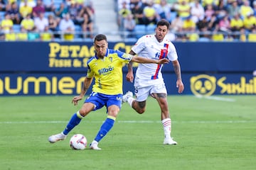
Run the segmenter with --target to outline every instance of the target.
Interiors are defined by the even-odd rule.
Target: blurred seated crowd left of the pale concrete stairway
[[[0,0],[0,40],[91,39],[94,15],[88,0]]]

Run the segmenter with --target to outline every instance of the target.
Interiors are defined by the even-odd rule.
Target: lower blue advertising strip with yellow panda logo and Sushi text
[[[125,80],[123,91],[134,91]],[[169,95],[178,94],[176,75],[164,74]],[[16,95],[77,95],[80,94],[85,74],[1,74],[0,96]],[[211,96],[218,94],[256,94],[256,77],[252,74],[183,74],[183,94]],[[90,88],[87,95],[90,94]]]

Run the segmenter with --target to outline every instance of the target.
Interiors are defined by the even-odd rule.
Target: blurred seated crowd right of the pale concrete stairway
[[[170,40],[256,42],[256,0],[118,0],[118,25],[127,38],[171,23]]]

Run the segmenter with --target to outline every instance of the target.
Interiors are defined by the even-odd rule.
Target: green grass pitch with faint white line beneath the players
[[[139,115],[124,103],[116,123],[100,142],[100,151],[72,150],[75,133],[88,145],[106,118],[91,112],[65,141],[50,144],[80,106],[73,96],[0,97],[0,169],[255,169],[255,96],[169,96],[172,137],[163,145],[159,106],[153,98]]]

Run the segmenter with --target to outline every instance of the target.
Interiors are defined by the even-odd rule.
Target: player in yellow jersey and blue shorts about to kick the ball
[[[87,76],[85,77],[82,91],[79,96],[73,98],[72,103],[74,103],[75,106],[78,105],[78,101],[82,100],[82,97],[85,96],[87,89],[92,84],[92,79],[95,78],[95,84],[92,86],[92,93],[85,99],[82,108],[70,118],[65,130],[48,138],[48,141],[51,143],[65,140],[68,133],[73,130],[73,128],[75,128],[88,113],[106,106],[107,118],[100,127],[95,139],[90,144],[91,149],[100,150],[101,148],[98,147],[98,142],[100,142],[113,127],[114,121],[122,106],[123,65],[128,64],[130,61],[159,65],[169,63],[169,60],[167,59],[147,59],[145,57],[129,55],[119,50],[109,49],[107,38],[102,34],[96,35],[94,47],[95,56],[87,62]]]

